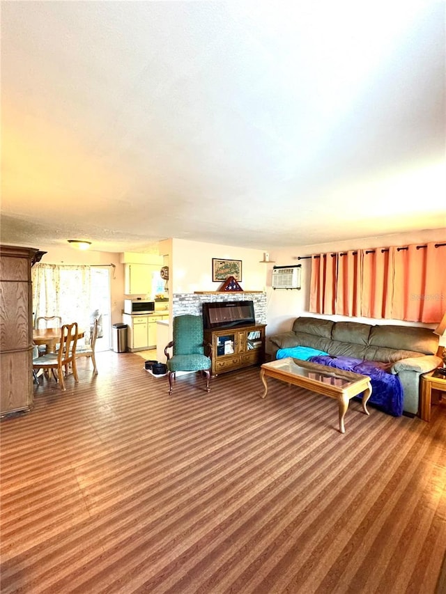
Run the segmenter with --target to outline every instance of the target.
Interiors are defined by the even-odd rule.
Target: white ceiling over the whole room
[[[1,242],[446,226],[445,3],[2,1]]]

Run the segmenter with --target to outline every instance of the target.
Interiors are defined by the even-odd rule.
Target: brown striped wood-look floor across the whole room
[[[445,592],[446,407],[337,405],[259,369],[79,361],[1,422],[1,593]]]

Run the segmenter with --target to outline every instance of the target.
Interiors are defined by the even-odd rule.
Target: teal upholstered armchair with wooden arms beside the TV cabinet
[[[172,357],[168,352],[170,348],[173,349]],[[164,354],[167,358],[169,394],[172,393],[172,378],[176,379],[177,371],[200,371],[206,375],[206,391],[210,390],[212,346],[203,342],[201,315],[177,315],[174,318],[174,340],[165,347]]]

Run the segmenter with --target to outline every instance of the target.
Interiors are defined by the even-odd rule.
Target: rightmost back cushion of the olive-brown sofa
[[[422,354],[436,354],[438,336],[428,328],[377,325],[371,327],[369,345]]]

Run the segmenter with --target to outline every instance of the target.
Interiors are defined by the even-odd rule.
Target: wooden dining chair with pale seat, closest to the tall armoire
[[[61,384],[61,390],[66,390],[64,377],[68,375],[68,370],[72,369],[72,375],[75,378],[75,382],[79,382],[77,377],[76,367],[76,345],[77,345],[77,322],[72,324],[64,324],[61,327],[61,347],[56,353],[46,353],[33,359],[33,370],[38,371],[43,369],[44,371],[53,372],[56,381],[58,380]]]

